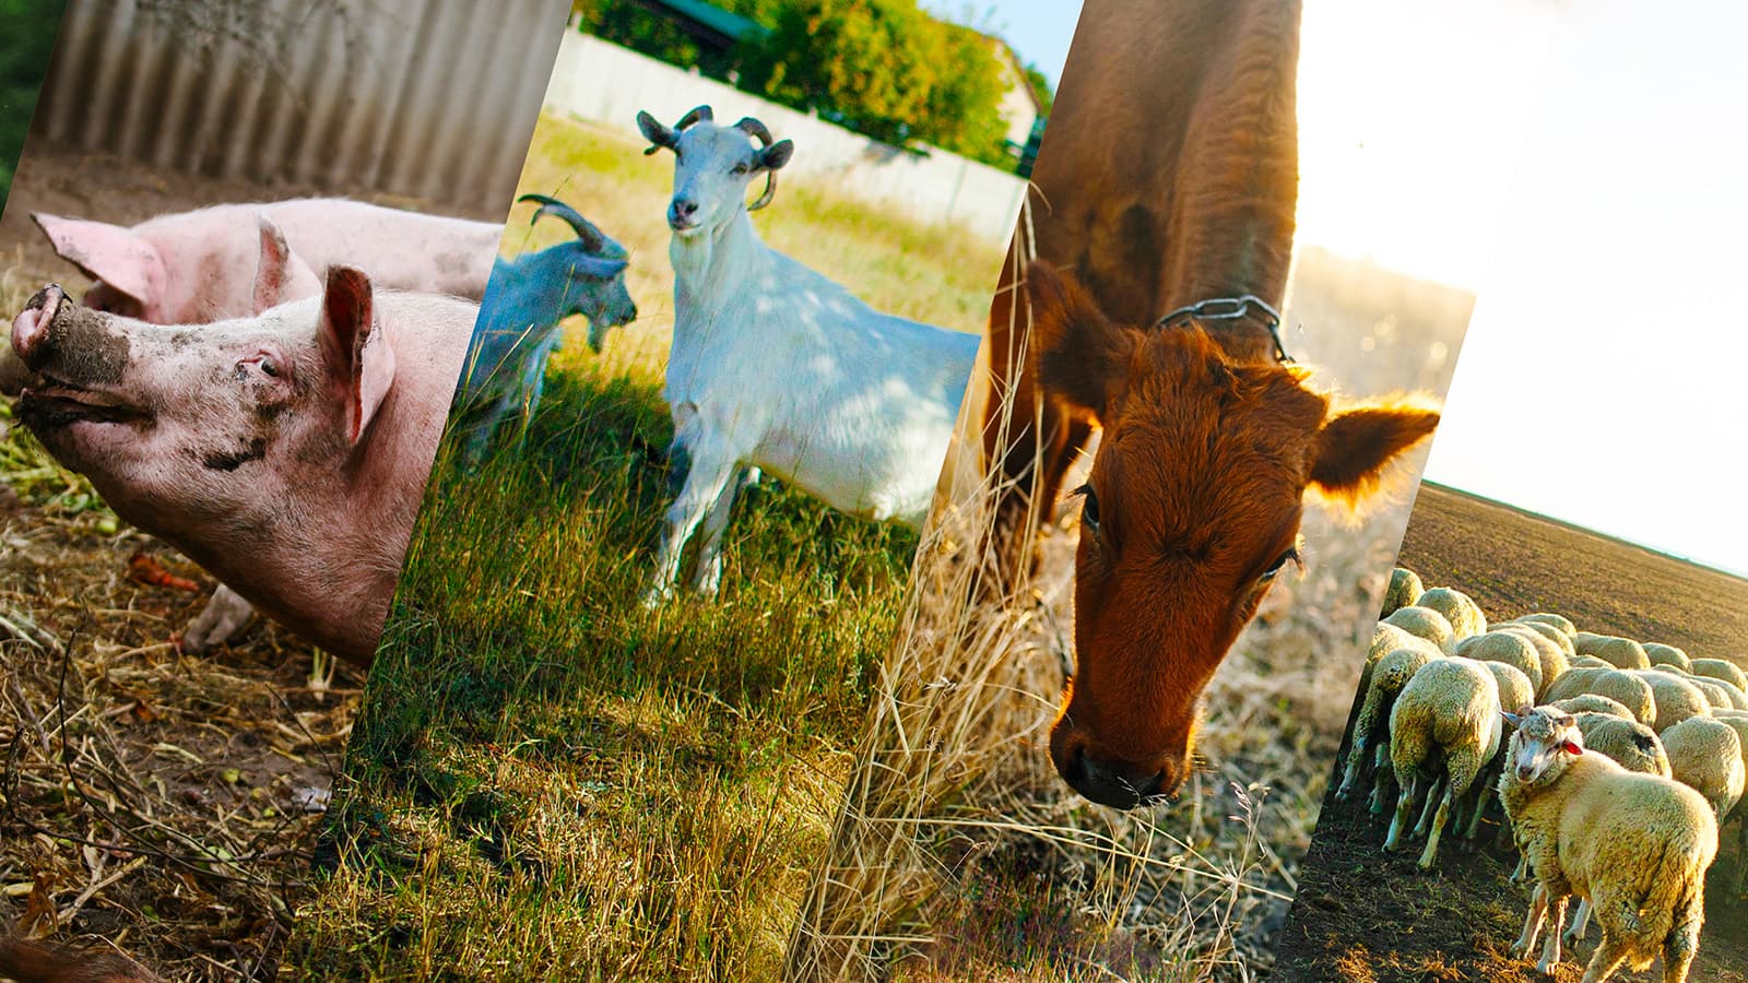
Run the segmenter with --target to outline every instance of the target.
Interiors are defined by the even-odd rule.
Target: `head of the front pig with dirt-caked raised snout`
[[[371,282],[350,268],[320,297],[201,327],[79,308],[49,285],[12,348],[42,378],[17,402],[24,425],[178,546],[245,535],[343,474],[395,376]]]

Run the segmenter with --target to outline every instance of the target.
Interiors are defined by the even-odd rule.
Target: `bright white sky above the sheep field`
[[[1428,478],[1748,574],[1748,7],[1559,10]]]

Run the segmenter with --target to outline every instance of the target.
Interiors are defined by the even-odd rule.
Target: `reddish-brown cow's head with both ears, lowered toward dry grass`
[[[1108,322],[1044,262],[1026,289],[1044,390],[1103,429],[1079,490],[1077,665],[1051,757],[1086,798],[1129,808],[1189,775],[1203,691],[1297,563],[1306,493],[1353,505],[1439,413],[1334,409],[1306,371],[1232,362],[1201,327]]]

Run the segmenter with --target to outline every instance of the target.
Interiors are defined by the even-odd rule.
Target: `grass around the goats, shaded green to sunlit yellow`
[[[551,117],[537,129],[523,191],[575,201],[631,248],[649,317],[600,357],[572,332],[519,453],[465,471],[446,441],[294,974],[738,980],[781,966],[916,535],[767,481],[736,505],[720,600],[642,609],[668,502],[671,161],[638,149]],[[759,222],[876,306],[937,324],[975,327],[996,275],[988,245],[871,219],[799,180]],[[535,248],[510,229],[512,252]]]

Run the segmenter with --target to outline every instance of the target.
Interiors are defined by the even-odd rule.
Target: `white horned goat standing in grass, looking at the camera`
[[[794,143],[773,142],[757,119],[717,126],[710,107],[697,107],[675,128],[640,112],[638,128],[652,143],[647,154],[675,152],[675,325],[662,395],[675,427],[669,462],[683,476],[645,603],[673,595],[699,521],[692,586],[717,593],[745,465],[843,512],[919,528],[977,338],[883,315],[766,247],[748,212],[771,203]],[[764,194],[746,205],[746,185],[760,173]]]

